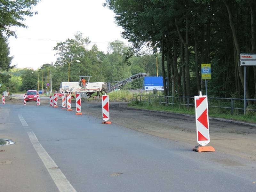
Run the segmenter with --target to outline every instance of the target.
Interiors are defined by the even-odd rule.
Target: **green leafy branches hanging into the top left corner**
[[[17,37],[11,29],[12,26],[25,27],[22,23],[25,21],[24,16],[32,17],[37,12],[32,11],[32,6],[40,0],[0,0],[0,32],[7,36]]]

